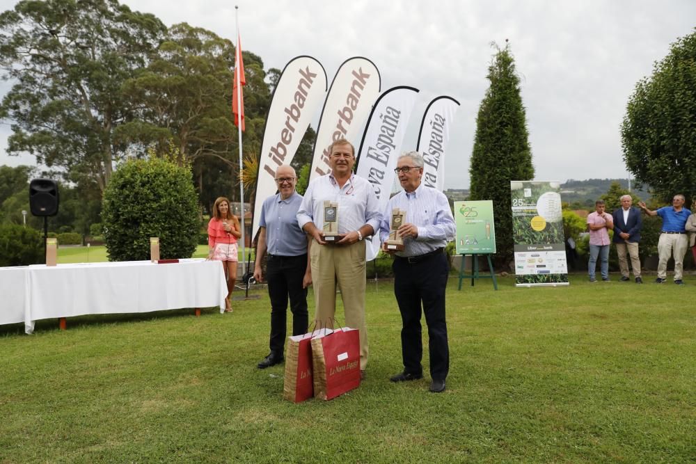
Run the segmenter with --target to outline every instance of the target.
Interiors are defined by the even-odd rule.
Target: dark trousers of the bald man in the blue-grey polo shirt
[[[307,289],[302,288],[302,279],[307,270],[307,255],[268,255],[266,280],[271,298],[271,353],[283,354],[285,348],[285,326],[287,299],[290,298],[292,312],[292,335],[307,332]]]

